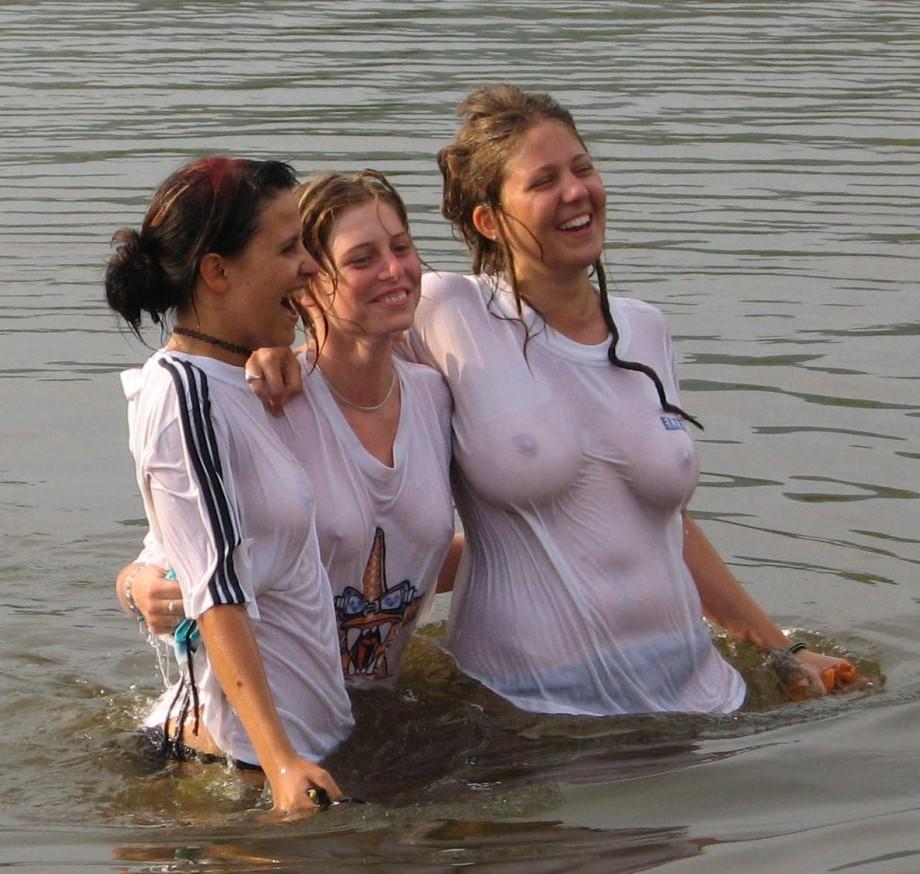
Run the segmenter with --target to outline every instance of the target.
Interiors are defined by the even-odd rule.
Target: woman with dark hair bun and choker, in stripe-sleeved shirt
[[[172,321],[123,384],[150,530],[204,644],[148,722],[179,749],[261,767],[292,813],[313,809],[315,790],[341,795],[316,763],[352,725],[313,489],[243,370],[252,349],[293,340],[291,297],[316,269],[294,185],[275,161],[186,165],[139,231],[115,235],[105,280],[138,336],[144,312]]]

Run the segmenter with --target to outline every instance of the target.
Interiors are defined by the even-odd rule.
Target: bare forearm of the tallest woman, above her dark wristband
[[[768,649],[790,640],[735,579],[715,547],[685,510],[684,561],[696,583],[703,612],[730,635]]]

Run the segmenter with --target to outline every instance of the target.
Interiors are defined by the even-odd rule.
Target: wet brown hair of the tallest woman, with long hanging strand
[[[473,222],[473,212],[477,206],[488,206],[493,210],[499,230],[504,229],[506,216],[501,192],[508,161],[521,138],[535,125],[544,121],[559,122],[571,131],[585,151],[587,146],[572,114],[557,100],[549,94],[522,91],[514,85],[494,85],[473,91],[457,106],[457,115],[462,121],[454,141],[438,152],[438,168],[443,178],[441,213],[470,250],[473,273],[485,276],[493,292],[504,279],[511,288],[518,316],[522,316],[514,253],[503,242],[501,233],[495,240],[479,233]],[[702,428],[693,416],[667,399],[661,379],[652,367],[618,357],[616,347],[620,333],[610,311],[607,277],[600,258],[591,269],[597,279],[604,322],[612,337],[608,351],[610,363],[644,373],[654,383],[662,409]],[[524,341],[525,354],[528,339],[529,335]]]

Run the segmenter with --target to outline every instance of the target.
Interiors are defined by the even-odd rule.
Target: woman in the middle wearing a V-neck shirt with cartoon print
[[[435,371],[393,356],[421,280],[396,191],[373,171],[328,173],[298,197],[304,242],[319,265],[301,298],[311,342],[297,358],[303,390],[270,422],[315,491],[345,677],[392,682],[453,536],[450,396]],[[254,385],[266,354],[247,365]],[[147,558],[158,550],[152,545]],[[176,583],[163,573],[141,570],[132,583],[132,600],[157,633],[178,618],[169,612]]]

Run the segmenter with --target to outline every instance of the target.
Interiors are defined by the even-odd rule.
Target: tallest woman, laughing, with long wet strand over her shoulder
[[[467,549],[448,649],[530,711],[727,712],[745,684],[704,614],[801,660],[686,511],[698,478],[671,340],[606,288],[604,186],[547,94],[483,88],[438,154],[473,275],[429,274],[409,341],[454,400]]]

